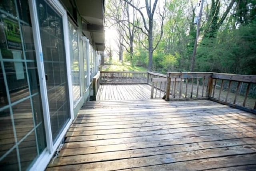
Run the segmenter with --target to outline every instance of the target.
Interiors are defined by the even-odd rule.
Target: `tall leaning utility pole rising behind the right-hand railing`
[[[196,40],[195,40],[195,44],[194,44],[194,50],[193,50],[193,55],[192,55],[192,60],[191,60],[191,69],[190,72],[194,72],[194,65],[195,65],[195,59],[196,59],[196,48],[197,48],[197,42],[198,42],[198,37],[199,37],[199,33],[200,33],[200,23],[201,23],[201,17],[202,17],[202,12],[203,12],[203,8],[204,8],[204,0],[200,0],[201,2],[201,8],[200,8],[200,12],[199,12],[199,16],[198,16],[198,21],[196,22],[197,24],[197,30],[196,30]]]

